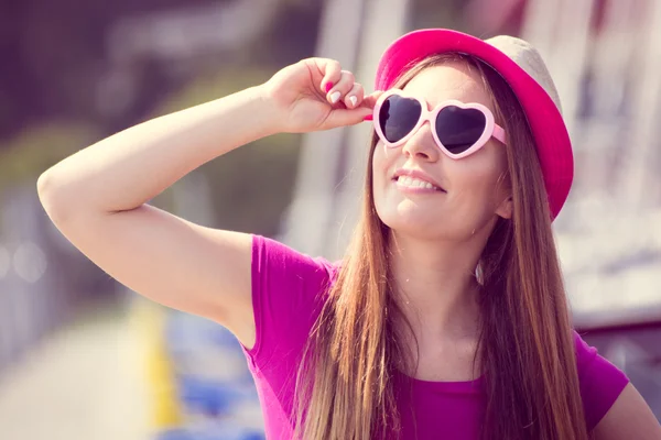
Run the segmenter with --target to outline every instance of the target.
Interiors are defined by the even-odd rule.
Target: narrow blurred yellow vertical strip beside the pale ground
[[[156,430],[180,427],[183,419],[172,364],[166,352],[165,317],[165,308],[143,298],[136,298],[132,319],[144,345],[144,372],[151,398],[150,417]]]

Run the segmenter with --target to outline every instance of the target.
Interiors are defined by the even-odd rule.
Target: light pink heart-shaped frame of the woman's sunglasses
[[[390,98],[393,95],[418,101],[420,103],[420,108],[422,111],[420,112],[420,118],[418,119],[415,127],[413,127],[413,129],[409,132],[409,134],[407,134],[404,138],[400,139],[397,142],[389,142],[386,139],[383,131],[381,130],[381,125],[379,123],[379,113],[381,112],[381,107],[383,106],[383,102],[386,102],[386,99]],[[476,110],[479,110],[485,116],[485,121],[486,121],[485,122],[485,131],[483,132],[481,136],[479,136],[479,139],[475,142],[475,144],[473,144],[468,150],[466,150],[465,152],[462,152],[459,154],[451,153],[443,145],[443,143],[438,139],[438,135],[436,134],[436,130],[434,128],[434,122],[436,120],[436,117],[441,112],[441,110],[443,110],[444,108],[449,107],[449,106],[456,106],[462,109],[476,109]],[[494,120],[494,113],[491,113],[491,110],[489,110],[487,107],[483,106],[481,103],[477,103],[477,102],[465,103],[462,101],[457,101],[455,99],[451,99],[451,100],[441,102],[438,106],[436,106],[432,110],[430,110],[429,107],[430,106],[426,101],[424,101],[420,98],[407,95],[399,89],[388,90],[379,97],[379,99],[377,100],[377,103],[375,105],[375,109],[373,109],[373,113],[372,113],[375,131],[377,132],[379,139],[381,140],[381,142],[383,142],[383,144],[386,146],[394,148],[394,147],[398,147],[398,146],[404,144],[409,139],[411,139],[411,136],[415,132],[418,132],[418,130],[420,130],[420,128],[425,122],[429,122],[430,125],[432,127],[432,130],[431,130],[432,136],[434,138],[436,145],[441,148],[441,151],[443,153],[445,153],[445,155],[447,155],[449,158],[453,158],[453,160],[458,160],[462,157],[466,157],[473,153],[476,153],[477,151],[479,151],[479,148],[481,148],[487,143],[487,141],[489,141],[489,139],[491,139],[491,136],[497,139],[498,141],[500,141],[503,145],[507,144],[505,130],[496,123],[496,121]]]

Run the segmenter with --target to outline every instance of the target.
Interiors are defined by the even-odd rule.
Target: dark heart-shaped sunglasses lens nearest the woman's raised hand
[[[401,141],[418,123],[422,108],[415,99],[388,97],[379,111],[379,124],[388,142]]]

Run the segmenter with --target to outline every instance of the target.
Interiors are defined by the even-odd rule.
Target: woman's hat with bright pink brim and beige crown
[[[539,52],[528,42],[505,35],[483,41],[447,29],[414,31],[386,50],[377,69],[375,90],[388,90],[416,62],[447,52],[483,61],[513,90],[537,144],[551,218],[555,219],[570,194],[574,176],[572,142],[551,75]]]

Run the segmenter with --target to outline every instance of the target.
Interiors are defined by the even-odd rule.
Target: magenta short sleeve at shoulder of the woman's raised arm
[[[253,362],[271,363],[305,344],[328,285],[332,265],[260,235],[252,238]]]

